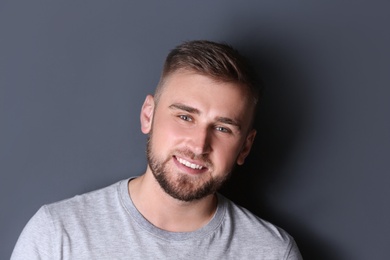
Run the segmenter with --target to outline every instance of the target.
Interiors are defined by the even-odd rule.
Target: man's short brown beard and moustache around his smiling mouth
[[[151,132],[146,150],[149,167],[160,187],[175,199],[185,202],[200,200],[214,194],[230,177],[230,172],[221,177],[213,177],[210,173],[212,169],[211,161],[203,155],[199,158],[199,156],[196,156],[189,150],[175,150],[165,159],[157,158],[153,152],[152,139]],[[207,166],[207,172],[195,176],[174,172],[168,165],[169,161],[173,160],[174,155],[183,155],[188,158],[201,160]]]

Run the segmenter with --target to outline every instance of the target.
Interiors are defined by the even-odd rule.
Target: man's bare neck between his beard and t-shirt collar
[[[205,226],[217,208],[216,195],[192,202],[171,197],[150,171],[129,182],[129,195],[149,222],[172,232],[190,232]]]

